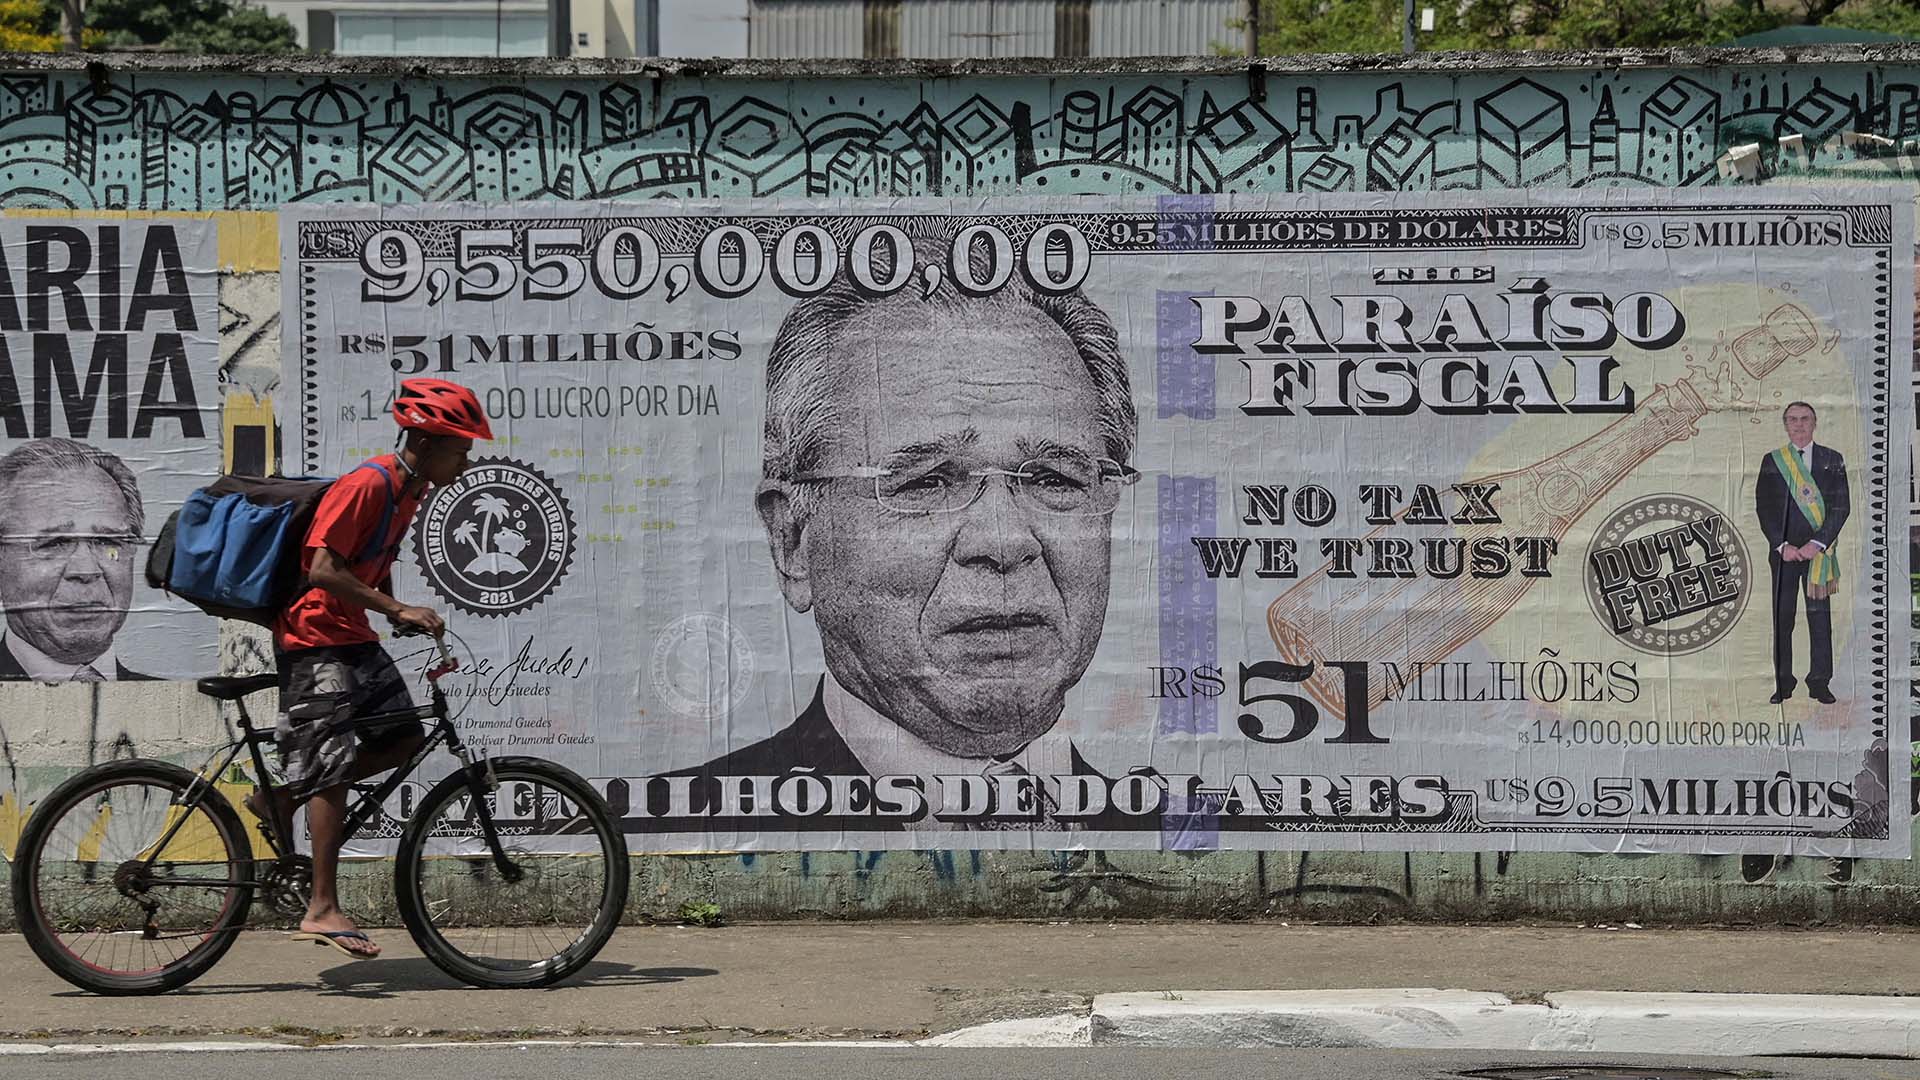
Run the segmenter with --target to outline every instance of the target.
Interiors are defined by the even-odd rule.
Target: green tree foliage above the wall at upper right
[[[1788,23],[1920,37],[1920,0],[1415,0],[1421,8],[1434,12],[1434,29],[1417,35],[1423,50],[1711,46]],[[1260,50],[1400,52],[1402,17],[1402,0],[1261,0]]]

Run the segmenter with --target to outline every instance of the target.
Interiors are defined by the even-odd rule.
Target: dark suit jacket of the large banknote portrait
[[[1075,776],[1100,776],[1102,773],[1087,765],[1081,757],[1079,748],[1071,748],[1071,767]],[[699,815],[710,813],[718,798],[718,776],[783,776],[793,769],[812,771],[814,776],[870,776],[868,767],[854,755],[847,740],[841,738],[839,728],[833,726],[833,719],[826,709],[826,680],[814,688],[814,700],[806,709],[787,726],[770,734],[768,738],[716,757],[705,765],[693,769],[680,769],[676,773],[662,773],[660,776],[693,776],[693,799],[691,807],[697,817],[693,819],[660,819],[645,817],[641,819],[641,828],[647,832],[687,832],[701,830],[707,822]],[[660,792],[655,790],[655,809],[660,813]],[[1087,817],[1075,819],[1087,830],[1106,832],[1106,830],[1125,830],[1125,832],[1158,832],[1160,815],[1123,815],[1112,807]],[[718,824],[718,822],[716,822]],[[768,830],[870,830],[870,832],[902,832],[906,828],[899,819],[887,817],[778,817],[778,819],[743,819],[728,821],[728,826],[749,826],[749,828],[768,828]]]

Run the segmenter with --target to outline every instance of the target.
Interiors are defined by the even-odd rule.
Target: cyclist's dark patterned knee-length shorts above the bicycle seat
[[[280,719],[275,740],[296,798],[346,784],[361,746],[417,734],[420,721],[363,724],[369,713],[411,709],[407,678],[374,642],[280,653]]]

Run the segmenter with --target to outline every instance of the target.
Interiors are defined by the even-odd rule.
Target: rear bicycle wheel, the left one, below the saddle
[[[182,805],[192,784],[179,765],[113,761],[33,807],[13,917],[54,974],[94,994],[163,994],[232,947],[253,903],[252,844],[219,792]]]

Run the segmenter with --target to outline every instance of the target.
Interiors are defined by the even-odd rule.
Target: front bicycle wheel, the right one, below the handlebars
[[[480,824],[467,771],[436,784],[399,838],[394,894],[426,959],[486,988],[547,986],[612,938],[626,909],[626,838],[578,774],[536,757],[497,757]]]

